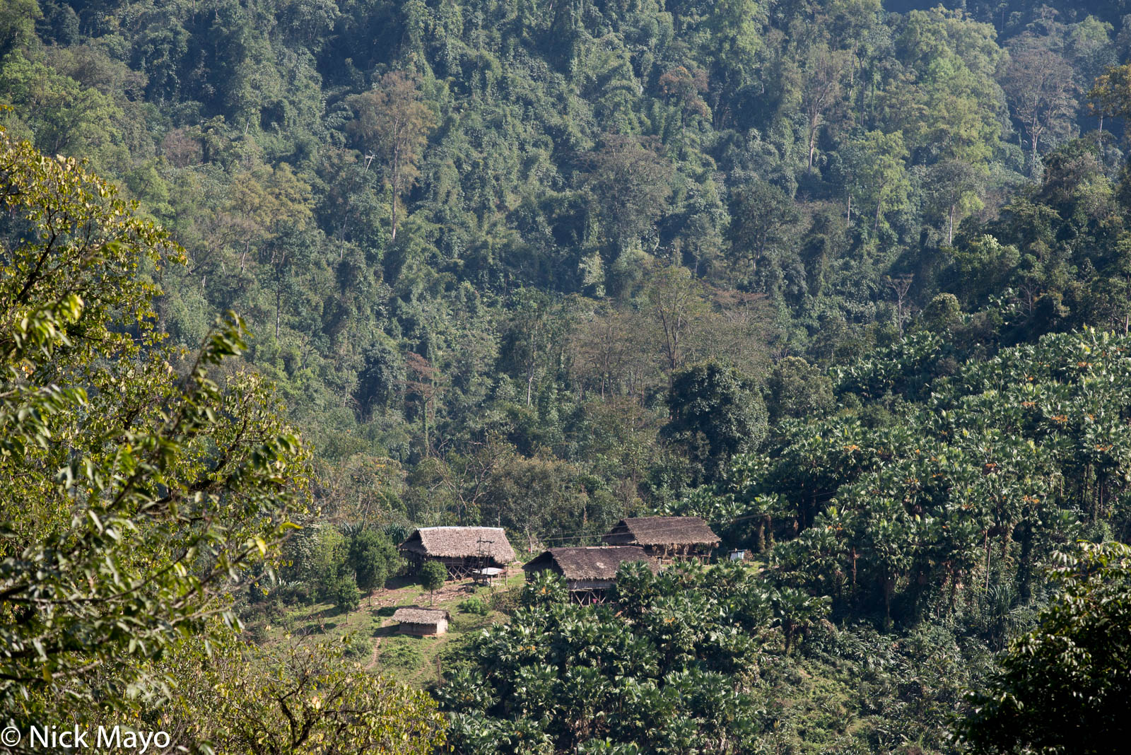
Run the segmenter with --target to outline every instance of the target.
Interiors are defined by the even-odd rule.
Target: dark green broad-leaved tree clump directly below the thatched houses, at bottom
[[[481,743],[500,724],[569,749],[595,739],[659,752],[758,746],[768,720],[754,669],[774,644],[771,627],[802,614],[752,572],[720,564],[654,575],[642,563],[622,565],[616,613],[570,605],[563,587],[555,575],[532,580],[525,608],[475,639],[469,666],[438,691],[456,747],[493,752]]]

